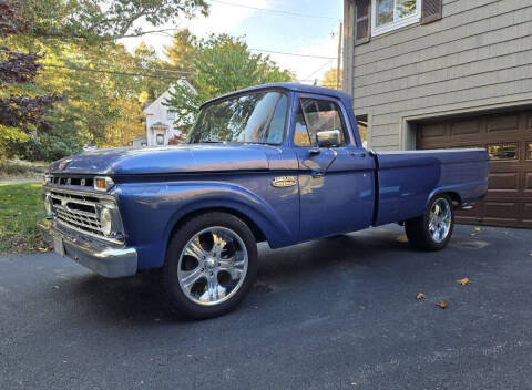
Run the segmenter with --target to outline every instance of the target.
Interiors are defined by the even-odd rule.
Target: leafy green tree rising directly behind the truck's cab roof
[[[197,41],[195,52],[191,81],[196,93],[176,84],[166,102],[184,127],[209,99],[250,85],[294,80],[294,74],[280,70],[268,55],[253,54],[243,38],[213,34]]]

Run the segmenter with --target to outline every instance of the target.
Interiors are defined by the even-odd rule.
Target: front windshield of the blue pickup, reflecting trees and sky
[[[202,109],[187,143],[280,144],[285,136],[288,99],[280,92],[258,92]]]

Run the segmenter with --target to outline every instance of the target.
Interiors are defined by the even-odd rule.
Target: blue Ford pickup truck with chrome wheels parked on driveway
[[[162,269],[176,310],[236,307],[272,248],[399,223],[443,248],[488,189],[485,150],[375,153],[348,94],[289,83],[206,102],[186,143],[89,151],[50,165],[40,223],[54,250],[115,278]],[[355,248],[354,248],[355,249]]]

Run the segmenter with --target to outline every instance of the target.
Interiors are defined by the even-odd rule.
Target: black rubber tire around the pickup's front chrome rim
[[[184,287],[181,287],[177,269],[180,266],[182,266],[180,265],[180,259],[182,257],[182,252],[185,249],[185,246],[188,244],[188,242],[200,232],[218,227],[231,230],[231,233],[236,234],[242,239],[242,243],[245,245],[247,250],[247,271],[244,276],[241,276],[241,278],[244,279],[239,287],[232,292],[232,296],[229,295],[223,298],[226,300],[221,301],[219,304],[208,304],[209,306],[206,306],[205,304],[202,305],[201,302],[194,301],[194,297],[190,298],[186,295],[191,292],[185,292]],[[214,247],[212,250],[214,250]],[[204,268],[201,270],[203,271],[203,269]],[[211,273],[211,275],[213,273]],[[253,286],[253,283],[255,281],[256,275],[257,244],[255,237],[247,225],[232,214],[219,212],[201,214],[185,222],[182,226],[175,229],[170,239],[163,268],[164,286],[170,302],[175,307],[178,316],[182,318],[206,319],[229,312],[245,298]],[[208,287],[205,287],[205,289],[208,289]]]

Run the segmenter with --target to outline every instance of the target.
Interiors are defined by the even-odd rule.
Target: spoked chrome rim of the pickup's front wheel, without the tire
[[[225,227],[201,230],[186,243],[177,265],[180,287],[188,299],[213,306],[242,287],[248,256],[242,238]]]

